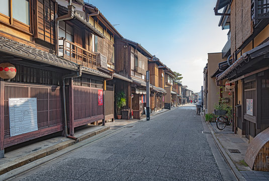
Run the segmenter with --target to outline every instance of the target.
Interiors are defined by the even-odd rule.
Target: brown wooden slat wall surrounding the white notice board
[[[59,86],[5,82],[5,137],[10,135],[9,98],[37,98],[38,130],[63,124]]]

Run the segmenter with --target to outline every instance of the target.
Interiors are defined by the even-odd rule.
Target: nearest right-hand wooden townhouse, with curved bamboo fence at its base
[[[217,1],[215,12],[220,26],[230,29],[230,56],[217,81],[227,78],[235,84],[233,110],[235,132],[250,145],[245,161],[255,170],[269,170],[269,2]],[[223,13],[218,10],[224,8]],[[222,83],[223,84],[223,83]]]

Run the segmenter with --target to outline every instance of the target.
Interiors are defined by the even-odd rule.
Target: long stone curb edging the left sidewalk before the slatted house
[[[82,136],[79,136],[77,138],[77,140],[67,140],[67,141],[64,141],[64,142],[61,142],[61,143],[58,143],[56,145],[53,145],[53,146],[50,146],[48,148],[45,148],[45,149],[41,149],[41,150],[38,150],[34,153],[31,153],[31,154],[28,154],[28,155],[25,155],[25,156],[22,156],[22,157],[19,157],[13,161],[9,161],[7,163],[4,163],[1,165],[1,168],[0,168],[0,175],[8,172],[8,171],[11,171],[15,168],[18,168],[20,166],[23,166],[23,165],[26,165],[32,161],[35,161],[37,159],[40,159],[40,158],[43,158],[45,156],[48,156],[52,153],[55,153],[57,151],[60,151],[68,146],[71,146],[75,143],[78,143],[80,141],[83,141],[87,138],[90,138],[90,137],[93,137],[95,135],[98,135],[106,130],[110,129],[110,127],[102,127],[94,132],[89,132],[89,133],[86,133]]]

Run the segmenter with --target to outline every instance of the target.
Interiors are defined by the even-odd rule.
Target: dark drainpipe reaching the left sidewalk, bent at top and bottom
[[[81,75],[82,75],[82,65],[79,65],[79,70],[77,72],[62,76],[62,95],[63,95],[63,111],[64,111],[64,133],[65,133],[65,136],[67,138],[71,138],[71,139],[74,139],[74,140],[77,140],[77,138],[68,135],[68,131],[67,131],[65,79],[66,78],[73,78],[73,77],[80,77]]]

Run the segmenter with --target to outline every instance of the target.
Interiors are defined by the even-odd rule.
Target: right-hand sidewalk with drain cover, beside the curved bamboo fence
[[[207,125],[219,150],[238,180],[269,180],[269,172],[253,171],[245,163],[244,158],[248,147],[248,140],[246,138],[234,134],[231,126],[226,126],[224,130],[218,130],[216,122],[207,122]]]

